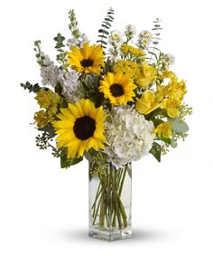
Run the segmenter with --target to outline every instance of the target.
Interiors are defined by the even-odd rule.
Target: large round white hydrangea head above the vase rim
[[[115,107],[106,121],[105,153],[116,168],[147,155],[153,144],[153,122],[135,109]]]

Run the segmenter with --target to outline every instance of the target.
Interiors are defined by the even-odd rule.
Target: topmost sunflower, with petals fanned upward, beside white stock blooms
[[[72,46],[71,51],[67,52],[68,63],[78,72],[99,74],[101,67],[104,67],[105,57],[100,44],[89,46],[88,43],[84,43],[83,48]]]

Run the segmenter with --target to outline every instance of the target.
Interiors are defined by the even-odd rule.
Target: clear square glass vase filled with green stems
[[[89,161],[88,236],[115,241],[132,236],[132,163],[116,169]]]

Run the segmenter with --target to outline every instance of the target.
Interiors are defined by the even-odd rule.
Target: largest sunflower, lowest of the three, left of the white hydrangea
[[[60,109],[59,121],[52,122],[59,136],[58,147],[68,147],[68,157],[83,156],[85,150],[104,148],[103,135],[105,115],[101,107],[95,108],[90,100],[79,100]]]

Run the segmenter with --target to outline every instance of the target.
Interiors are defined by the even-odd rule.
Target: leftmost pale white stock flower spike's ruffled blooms
[[[41,54],[42,66],[41,66],[41,77],[43,85],[51,85],[55,87],[58,83],[59,67],[57,67],[48,55]]]

